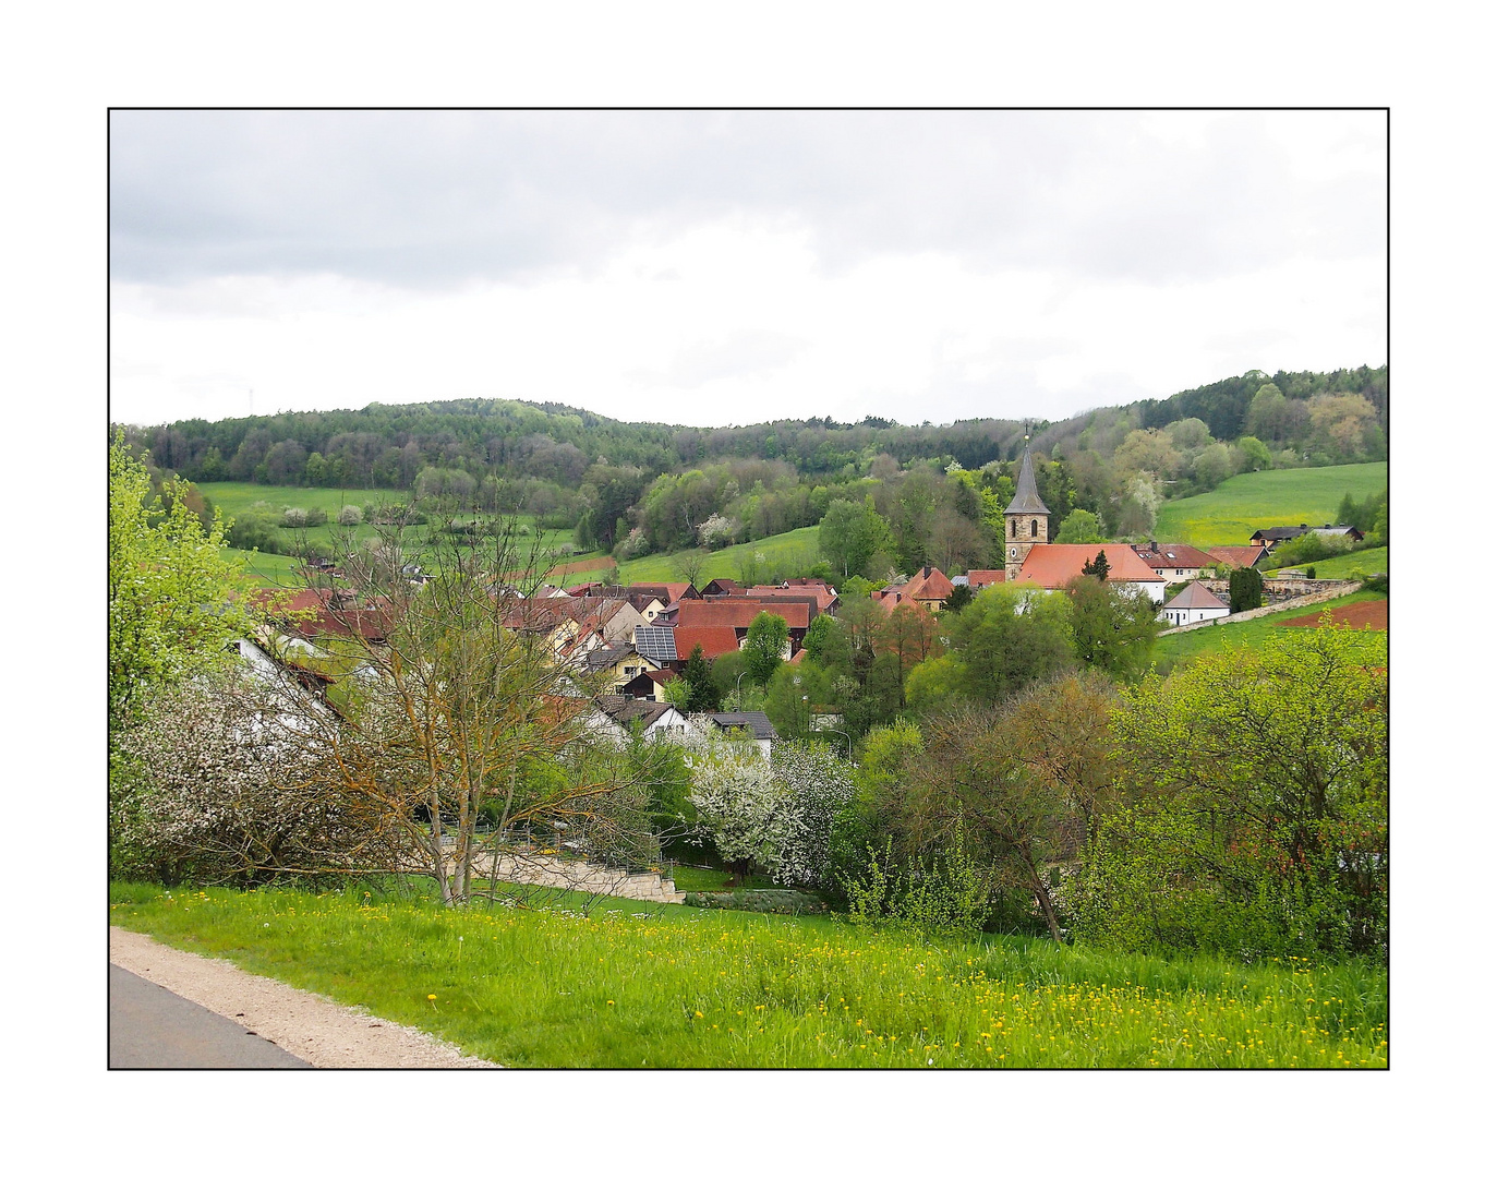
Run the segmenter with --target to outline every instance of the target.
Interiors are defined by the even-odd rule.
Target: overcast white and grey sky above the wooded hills
[[[1386,362],[1382,112],[115,112],[111,418],[1058,419]]]

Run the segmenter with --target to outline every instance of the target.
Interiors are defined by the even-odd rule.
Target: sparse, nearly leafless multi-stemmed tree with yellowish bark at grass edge
[[[328,786],[379,810],[406,870],[449,904],[501,858],[648,846],[639,783],[582,756],[596,714],[557,615],[530,597],[546,554],[513,519],[485,531],[458,543],[448,521],[394,524],[349,554],[317,608],[337,715],[299,729]]]

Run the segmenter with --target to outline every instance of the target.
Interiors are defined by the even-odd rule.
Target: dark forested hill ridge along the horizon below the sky
[[[1365,406],[1358,409],[1347,398]],[[1235,443],[1251,436],[1271,452],[1308,451],[1301,461],[1383,458],[1388,368],[1280,371],[1272,377],[1251,371],[1165,400],[1040,422],[1034,445],[1052,457],[1091,451],[1111,460],[1130,433],[1159,431],[1189,419],[1204,422],[1214,442]],[[1338,422],[1340,437],[1332,437],[1331,425]],[[867,474],[879,455],[900,466],[940,460],[976,470],[1012,461],[1022,445],[1021,422],[991,418],[948,425],[808,418],[698,428],[621,422],[555,403],[500,400],[192,419],[130,433],[135,443],[150,449],[156,466],[192,480],[370,489],[409,489],[428,467],[575,488],[597,464],[635,469],[648,479],[734,458],[778,460],[801,476],[825,482]]]

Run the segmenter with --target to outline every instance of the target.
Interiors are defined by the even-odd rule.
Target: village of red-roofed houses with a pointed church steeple
[[[1004,567],[948,576],[925,566],[873,590],[871,597],[885,615],[898,609],[939,614],[954,600],[970,600],[993,585],[1058,593],[1078,576],[1097,575],[1100,567],[1108,584],[1157,603],[1162,629],[1189,629],[1332,600],[1361,584],[1284,570],[1262,579],[1265,605],[1234,615],[1225,572],[1256,569],[1278,545],[1305,534],[1355,542],[1362,533],[1350,525],[1298,524],[1259,528],[1246,537],[1247,543],[1205,551],[1160,540],[1067,545],[1049,542],[1048,516],[1025,449],[1018,489],[1004,512]],[[428,579],[419,564],[404,566],[401,576],[416,587]],[[241,650],[262,671],[269,671],[287,651],[299,651],[295,674],[314,683],[314,671],[308,668],[316,663],[305,656],[314,657],[317,644],[337,644],[353,635],[377,642],[383,614],[379,600],[356,599],[332,560],[310,563],[305,578],[311,582],[307,588],[275,597],[280,626],[262,627],[254,639],[241,641]],[[569,588],[542,582],[528,596],[510,585],[499,585],[494,593],[504,600],[504,626],[540,641],[548,659],[569,677],[576,698],[588,701],[585,723],[594,735],[623,742],[630,733],[680,738],[693,730],[723,732],[751,739],[765,756],[780,733],[763,711],[689,712],[672,683],[680,683],[693,654],[711,665],[723,654],[743,651],[762,615],[783,620],[778,659],[799,665],[816,620],[835,618],[841,605],[829,581],[805,576],[763,585],[713,578],[702,587],[689,581],[623,585],[590,581]],[[837,730],[840,718],[837,711],[822,708],[811,717],[811,726]]]

